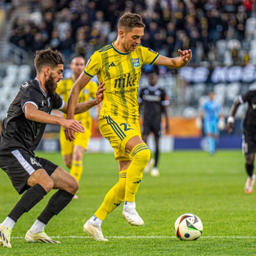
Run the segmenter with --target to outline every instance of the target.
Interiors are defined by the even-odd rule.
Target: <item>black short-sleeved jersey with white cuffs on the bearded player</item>
[[[51,113],[52,108],[64,107],[64,101],[60,96],[57,93],[45,93],[37,79],[22,84],[2,123],[0,154],[16,148],[33,152],[41,140],[46,124],[26,118],[24,107],[27,103],[35,105],[38,110],[48,114]]]

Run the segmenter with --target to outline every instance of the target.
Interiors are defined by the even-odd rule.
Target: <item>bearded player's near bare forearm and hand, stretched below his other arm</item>
[[[84,132],[84,127],[80,121],[66,120],[58,116],[52,116],[41,110],[38,110],[35,105],[27,103],[24,107],[25,116],[27,119],[44,123],[44,124],[59,124],[64,128],[71,129],[74,132]]]

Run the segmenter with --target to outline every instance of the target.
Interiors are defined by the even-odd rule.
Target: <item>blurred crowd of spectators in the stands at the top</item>
[[[28,52],[50,46],[66,63],[72,54],[87,60],[117,36],[116,25],[124,12],[139,13],[146,24],[141,44],[167,57],[178,49],[191,49],[190,65],[218,60],[218,40],[237,39],[231,49],[234,63],[250,61],[245,35],[248,18],[256,18],[254,0],[45,0],[27,1],[30,15],[13,22],[10,42]]]

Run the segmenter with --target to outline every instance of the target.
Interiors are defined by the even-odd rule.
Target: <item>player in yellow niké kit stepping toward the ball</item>
[[[141,46],[144,27],[139,14],[125,13],[118,21],[116,41],[93,53],[83,74],[72,87],[68,100],[67,118],[70,119],[74,116],[78,95],[90,79],[97,75],[98,80],[105,83],[99,128],[114,149],[119,181],[108,191],[92,218],[84,224],[84,231],[98,241],[108,241],[103,237],[101,223],[124,200],[123,218],[130,225],[144,224],[135,209],[135,194],[150,159],[150,151],[141,139],[139,126],[137,99],[141,66],[148,63],[181,68],[192,57],[191,50],[179,50],[180,57],[167,58]],[[70,141],[74,139],[69,129],[65,129],[65,135]]]

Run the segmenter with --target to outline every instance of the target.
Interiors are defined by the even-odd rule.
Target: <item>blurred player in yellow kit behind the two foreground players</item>
[[[65,102],[68,102],[68,96],[72,86],[75,84],[77,78],[81,75],[85,67],[85,60],[82,56],[75,56],[71,60],[69,68],[73,71],[73,75],[70,78],[61,80],[58,83],[56,92],[63,97]],[[78,98],[78,102],[89,101],[90,98],[95,99],[98,84],[90,81],[86,88],[81,90]],[[64,114],[64,118],[66,115]],[[64,129],[60,128],[60,148],[61,155],[63,156],[65,165],[70,168],[70,175],[73,176],[79,183],[83,172],[83,155],[87,149],[88,142],[92,135],[92,118],[90,112],[86,111],[74,116],[74,119],[81,121],[84,126],[84,133],[75,133],[76,140],[66,140]],[[75,195],[73,199],[78,199]]]

